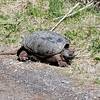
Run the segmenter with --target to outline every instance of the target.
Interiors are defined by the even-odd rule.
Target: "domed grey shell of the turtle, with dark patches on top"
[[[46,57],[60,53],[70,41],[56,32],[38,31],[26,36],[22,45],[32,53]]]

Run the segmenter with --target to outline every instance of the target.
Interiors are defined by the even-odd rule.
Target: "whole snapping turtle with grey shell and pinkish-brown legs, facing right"
[[[67,66],[74,57],[69,48],[70,41],[51,31],[38,31],[26,36],[17,51],[20,61],[34,60]]]

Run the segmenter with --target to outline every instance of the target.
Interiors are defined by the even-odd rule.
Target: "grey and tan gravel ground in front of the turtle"
[[[100,89],[78,89],[60,69],[0,56],[0,100],[100,100]]]

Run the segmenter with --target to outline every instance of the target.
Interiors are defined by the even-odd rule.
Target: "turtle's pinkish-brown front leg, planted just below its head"
[[[68,64],[66,63],[65,59],[61,56],[61,54],[57,54],[54,56],[59,66],[67,67]]]

